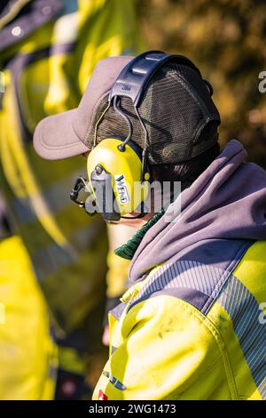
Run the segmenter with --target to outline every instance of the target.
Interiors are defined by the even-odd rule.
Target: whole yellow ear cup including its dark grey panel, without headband
[[[132,141],[106,138],[90,151],[87,172],[97,212],[106,221],[119,221],[134,211],[143,212],[150,174],[142,181],[142,150]]]

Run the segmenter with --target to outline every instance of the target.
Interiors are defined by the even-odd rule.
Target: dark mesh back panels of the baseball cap
[[[95,125],[107,106],[108,95],[101,100],[90,127],[86,145],[91,149]],[[145,134],[133,103],[121,98],[121,109],[131,120],[135,141],[145,147]],[[220,117],[207,86],[192,68],[175,63],[160,68],[153,76],[141,102],[139,113],[149,133],[150,164],[170,164],[200,155],[217,141],[215,133]],[[113,106],[98,125],[97,143],[110,136],[126,137],[128,126]]]

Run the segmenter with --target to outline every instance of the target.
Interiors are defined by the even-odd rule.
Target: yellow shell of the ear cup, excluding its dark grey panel
[[[122,141],[117,138],[106,138],[90,151],[87,161],[87,172],[91,189],[91,174],[101,166],[112,176],[113,194],[121,216],[134,212],[145,202],[149,194],[149,173],[141,183],[142,163],[137,151],[127,143],[124,150],[119,146]],[[135,145],[135,144],[134,144]],[[96,197],[96,195],[95,195]]]

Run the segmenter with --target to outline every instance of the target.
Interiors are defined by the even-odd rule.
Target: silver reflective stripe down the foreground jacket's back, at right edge
[[[216,300],[231,317],[254,382],[266,398],[266,326],[260,324],[261,310],[254,295],[237,277],[231,276]]]

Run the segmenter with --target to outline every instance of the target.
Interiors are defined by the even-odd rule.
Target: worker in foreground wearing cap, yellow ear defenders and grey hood
[[[182,55],[109,58],[35,130],[44,158],[88,156],[87,213],[137,227],[93,399],[266,398],[266,173],[220,149],[212,93]]]

